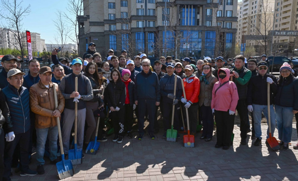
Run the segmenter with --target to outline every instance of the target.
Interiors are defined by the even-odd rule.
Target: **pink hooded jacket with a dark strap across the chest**
[[[237,87],[234,82],[229,81],[230,70],[228,68],[220,68],[217,72],[218,75],[220,70],[226,72],[226,77],[224,79],[218,78],[218,82],[213,86],[211,109],[214,108],[218,111],[235,111],[239,99]],[[229,82],[221,86],[221,84],[227,81]],[[221,88],[219,88],[215,94],[219,86],[221,86]]]

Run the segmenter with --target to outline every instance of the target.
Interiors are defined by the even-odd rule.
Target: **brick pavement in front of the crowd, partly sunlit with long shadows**
[[[262,125],[263,133],[267,126]],[[265,144],[254,146],[250,137],[248,145],[240,145],[239,126],[234,127],[234,145],[229,150],[216,149],[216,136],[212,141],[195,136],[195,148],[184,148],[183,137],[175,143],[162,138],[162,132],[150,140],[124,138],[123,143],[113,143],[112,137],[101,143],[97,155],[86,155],[83,164],[74,166],[75,175],[64,179],[73,180],[298,180],[298,150],[296,123],[293,123],[292,143],[287,151],[273,152]],[[275,129],[277,138],[277,129]],[[137,133],[134,132],[134,136]],[[249,134],[250,135],[250,134]],[[33,155],[34,157],[34,155]],[[34,157],[35,158],[35,157]],[[59,180],[55,165],[46,160],[45,174],[20,177],[16,180]],[[36,168],[35,160],[30,168]]]

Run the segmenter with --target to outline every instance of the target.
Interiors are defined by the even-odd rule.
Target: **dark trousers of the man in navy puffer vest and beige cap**
[[[21,152],[21,171],[26,172],[29,169],[29,142],[30,142],[30,130],[24,133],[15,134],[15,139],[5,143],[4,148],[4,174],[3,180],[10,180],[11,173],[11,161],[13,159],[13,153],[15,147],[20,145]]]

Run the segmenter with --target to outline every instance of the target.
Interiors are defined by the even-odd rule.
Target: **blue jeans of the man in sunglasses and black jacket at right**
[[[267,107],[267,105],[252,104],[252,108],[253,108],[252,112],[254,115],[255,136],[259,139],[262,139],[262,137],[261,137],[261,135],[262,135],[262,130],[261,130],[262,111],[267,119],[267,124],[268,124],[268,107]],[[275,125],[276,125],[273,105],[270,105],[270,120],[271,120],[271,135],[273,136]],[[267,129],[266,138],[269,138],[269,129]]]

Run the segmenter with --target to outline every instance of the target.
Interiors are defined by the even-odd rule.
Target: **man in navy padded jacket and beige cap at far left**
[[[22,86],[23,75],[25,73],[13,68],[7,73],[8,86],[2,89],[1,94],[4,95],[10,110],[11,121],[13,122],[13,132],[15,138],[13,141],[7,142],[4,150],[4,174],[2,180],[10,180],[11,161],[15,147],[20,145],[20,176],[34,176],[36,171],[29,168],[29,141],[30,141],[30,106],[29,91]],[[2,96],[3,96],[2,95]]]

